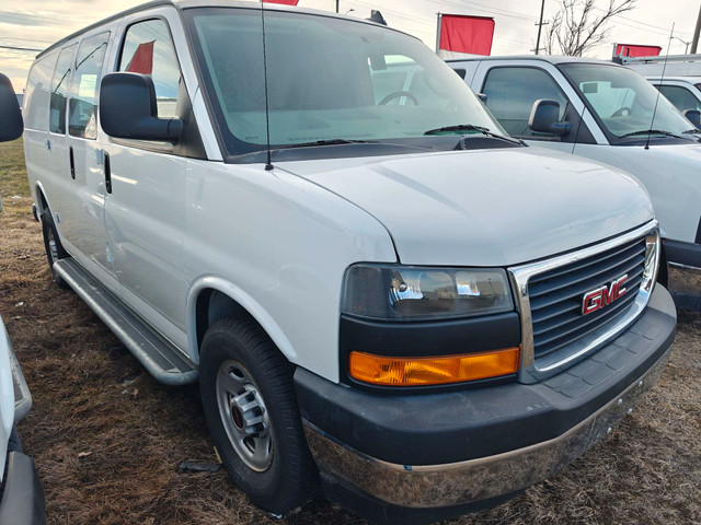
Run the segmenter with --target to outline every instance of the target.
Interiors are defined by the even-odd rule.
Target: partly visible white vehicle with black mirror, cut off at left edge
[[[22,136],[22,115],[12,83],[0,73],[0,142]],[[16,431],[32,407],[10,337],[0,316],[0,523],[38,525],[45,523],[44,491],[34,462],[22,451]]]

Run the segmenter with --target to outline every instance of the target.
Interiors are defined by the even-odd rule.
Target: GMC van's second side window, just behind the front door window
[[[78,48],[68,105],[68,132],[72,137],[97,138],[97,88],[108,39],[110,33],[102,33],[85,38]]]

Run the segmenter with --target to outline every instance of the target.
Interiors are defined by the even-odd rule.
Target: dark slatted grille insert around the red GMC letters
[[[624,315],[635,302],[645,271],[646,241],[640,237],[543,273],[528,282],[536,359],[556,352]],[[582,314],[585,293],[628,275],[625,294]]]

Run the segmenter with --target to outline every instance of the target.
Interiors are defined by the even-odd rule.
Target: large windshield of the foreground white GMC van
[[[266,143],[261,11],[187,12],[230,154]],[[466,83],[399,32],[323,15],[265,11],[271,143],[391,141],[471,124],[506,135]],[[478,131],[479,132],[479,131]]]

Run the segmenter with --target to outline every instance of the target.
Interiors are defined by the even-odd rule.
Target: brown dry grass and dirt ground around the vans
[[[216,462],[196,386],[157,383],[78,296],[54,284],[21,142],[0,144],[0,315],[34,397],[19,425],[49,524],[280,523]],[[671,360],[612,435],[554,478],[468,524],[701,523],[701,314],[679,313]],[[364,523],[323,499],[288,524]]]

